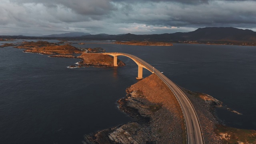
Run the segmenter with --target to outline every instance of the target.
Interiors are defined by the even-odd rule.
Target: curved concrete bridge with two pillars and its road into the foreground
[[[138,65],[137,79],[143,78],[143,68],[149,70],[152,73],[155,73],[170,88],[180,104],[186,126],[187,144],[204,144],[204,137],[196,111],[194,110],[194,107],[186,94],[184,94],[184,92],[182,92],[182,90],[180,90],[176,84],[164,76],[164,74],[162,74],[160,71],[156,70],[153,66],[136,56],[119,52],[107,52],[102,54],[113,56],[114,66],[117,66],[117,56],[127,56],[131,58]]]

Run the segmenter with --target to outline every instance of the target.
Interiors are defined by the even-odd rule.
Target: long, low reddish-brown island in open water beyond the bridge
[[[149,42],[149,41],[128,41],[128,42],[114,42],[114,44],[126,44],[134,46],[172,46],[170,42]]]

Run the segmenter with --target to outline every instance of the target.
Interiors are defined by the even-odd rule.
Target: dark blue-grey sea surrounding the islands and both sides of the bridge
[[[216,115],[227,126],[256,130],[255,46],[70,42],[77,48],[100,47],[138,56],[176,84],[209,94],[242,113],[217,108]],[[130,58],[118,58],[126,66],[68,68],[81,60],[0,48],[0,144],[82,144],[84,135],[133,121],[118,109],[117,100],[138,82],[138,66]],[[143,70],[143,77],[150,74]]]

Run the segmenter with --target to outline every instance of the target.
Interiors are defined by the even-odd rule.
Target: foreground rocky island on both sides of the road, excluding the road
[[[222,102],[212,96],[180,89],[192,102],[200,120],[205,144],[255,144],[256,131],[226,127],[219,122],[214,108]],[[118,100],[120,110],[133,122],[86,135],[84,144],[182,144],[186,130],[181,108],[174,94],[152,74],[126,90]]]

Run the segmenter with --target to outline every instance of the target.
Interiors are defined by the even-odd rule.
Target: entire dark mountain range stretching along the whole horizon
[[[6,37],[6,36],[5,36]],[[206,27],[198,28],[192,32],[176,32],[172,34],[88,34],[84,32],[70,32],[65,34],[52,34],[40,37],[8,36],[23,39],[62,39],[62,40],[118,40],[118,41],[229,41],[229,42],[256,42],[256,32],[233,27]],[[4,36],[0,36],[4,38]]]

